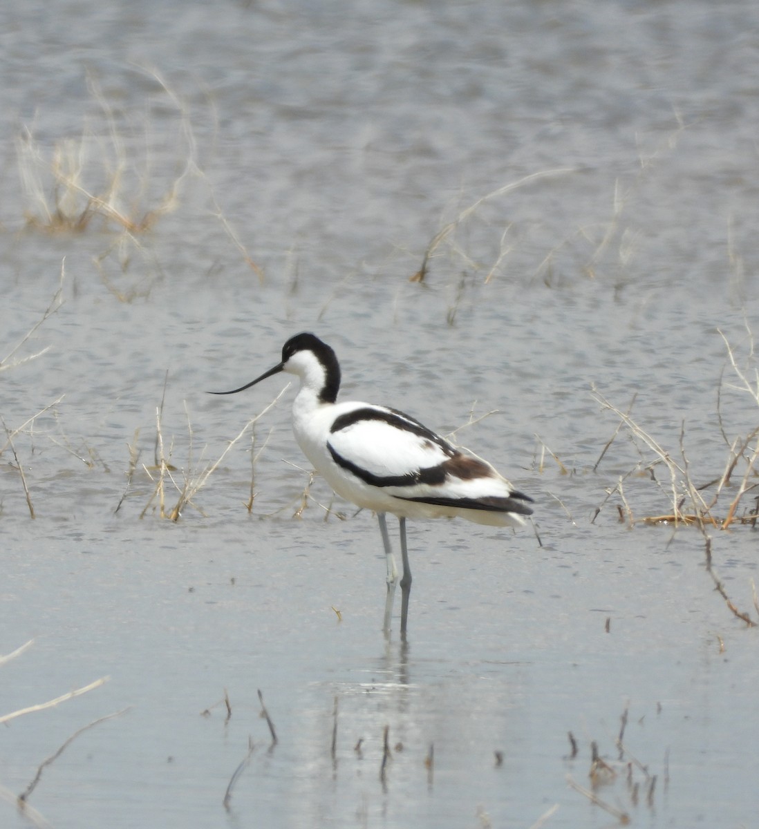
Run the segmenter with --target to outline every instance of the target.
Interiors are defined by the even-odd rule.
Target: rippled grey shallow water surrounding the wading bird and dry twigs
[[[714,591],[698,530],[620,523],[625,502],[635,519],[670,511],[669,477],[632,474],[625,501],[607,499],[655,455],[623,429],[594,470],[619,421],[591,395],[621,410],[636,395],[636,423],[678,459],[682,442],[696,483],[723,472],[721,429],[729,443],[755,428],[718,333],[752,371],[752,12],[0,12],[0,357],[40,321],[65,258],[61,307],[9,362],[50,350],[0,374],[9,429],[64,395],[14,437],[33,521],[11,449],[0,456],[0,652],[35,639],[0,666],[0,715],[109,676],[13,720],[0,785],[22,792],[76,730],[129,708],[44,769],[30,803],[56,829],[607,826],[567,783],[591,787],[592,741],[616,773],[594,793],[632,825],[752,825],[756,630]],[[150,230],[125,235],[111,214],[48,232],[66,139],[90,191],[124,159],[113,204],[134,221],[157,211]],[[318,478],[293,517],[309,468],[292,388],[256,424],[251,514],[249,433],[179,521],[150,502],[164,381],[182,486],[285,383],[205,392],[265,371],[299,330],[336,348],[345,399],[443,433],[497,410],[456,437],[536,499],[541,545],[529,527],[411,522],[406,643],[379,629],[374,517]],[[167,482],[168,509],[177,499]],[[711,535],[728,596],[756,621],[754,531]],[[231,718],[223,704],[202,715],[225,689]],[[3,826],[28,825],[0,810]]]

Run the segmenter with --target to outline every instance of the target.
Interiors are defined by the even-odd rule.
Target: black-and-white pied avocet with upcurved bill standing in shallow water
[[[339,496],[377,513],[387,561],[386,634],[398,570],[385,514],[391,512],[400,522],[405,637],[411,594],[406,518],[461,516],[478,524],[520,526],[522,516],[532,514],[526,502],[533,499],[517,492],[487,461],[452,446],[408,414],[370,403],[338,403],[338,358],[314,334],[290,337],[282,360],[254,381],[212,394],[235,395],[280,371],[300,378],[293,431],[306,458]]]

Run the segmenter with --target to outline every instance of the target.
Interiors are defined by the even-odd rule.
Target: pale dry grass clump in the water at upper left
[[[142,284],[118,288],[109,279],[105,265],[114,260],[124,274],[135,251],[149,259],[146,245],[139,238],[153,230],[163,216],[178,210],[182,191],[191,180],[200,181],[209,193],[209,215],[219,222],[246,265],[263,279],[263,271],[236,235],[202,170],[187,105],[157,71],[144,71],[177,113],[176,138],[156,148],[149,122],[143,127],[143,135],[135,131],[123,114],[114,112],[90,79],[98,116],[88,120],[79,135],[43,144],[32,128],[24,128],[17,139],[27,230],[51,235],[80,234],[90,229],[105,232],[109,244],[95,257],[95,266],[109,291],[119,301],[131,302],[147,295],[149,289]],[[153,169],[157,155],[160,175]]]

